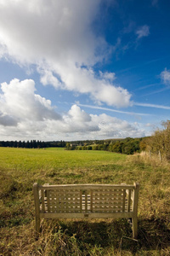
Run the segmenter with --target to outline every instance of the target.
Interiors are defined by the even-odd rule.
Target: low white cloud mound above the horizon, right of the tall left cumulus
[[[48,120],[47,129],[51,132],[56,131],[60,137],[61,135],[65,139],[67,137],[67,140],[144,136],[144,130],[136,124],[129,124],[125,120],[105,113],[88,114],[77,105],[71,107],[63,120],[63,122]]]

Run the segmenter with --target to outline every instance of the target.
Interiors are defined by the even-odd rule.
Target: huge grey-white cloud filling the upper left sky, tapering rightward
[[[92,30],[100,2],[0,0],[0,56],[36,65],[44,85],[86,93],[118,108],[129,106],[131,95],[113,84],[114,73],[94,72],[113,49]],[[148,26],[137,32],[139,38],[148,33]]]

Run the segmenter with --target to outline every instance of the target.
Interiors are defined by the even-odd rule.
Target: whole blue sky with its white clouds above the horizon
[[[170,111],[168,0],[0,0],[0,140],[150,136]]]

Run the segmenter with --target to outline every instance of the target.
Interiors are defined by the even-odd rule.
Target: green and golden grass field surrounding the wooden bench
[[[139,155],[0,148],[0,255],[169,255],[170,166]],[[139,239],[126,220],[43,220],[35,239],[32,185],[140,183]]]

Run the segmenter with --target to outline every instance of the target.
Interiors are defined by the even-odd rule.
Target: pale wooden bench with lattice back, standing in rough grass
[[[138,235],[139,184],[33,185],[36,230],[41,218],[132,218]]]

